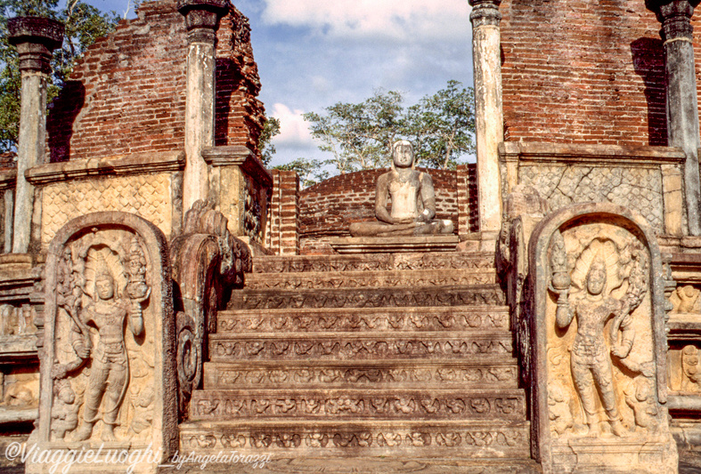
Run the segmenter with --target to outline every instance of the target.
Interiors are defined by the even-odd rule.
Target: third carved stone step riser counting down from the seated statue
[[[242,290],[227,309],[391,308],[418,306],[503,305],[499,285],[435,286],[334,290]]]

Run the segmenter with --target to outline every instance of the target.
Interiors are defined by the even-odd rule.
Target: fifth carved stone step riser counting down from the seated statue
[[[511,355],[511,334],[480,333],[260,333],[211,334],[209,359],[236,360],[371,360],[464,359]]]

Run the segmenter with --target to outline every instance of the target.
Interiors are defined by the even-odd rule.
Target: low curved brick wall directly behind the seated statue
[[[469,221],[471,208],[477,209],[477,206],[470,206],[467,202],[469,190],[462,197],[458,192],[460,179],[467,183],[468,174],[474,177],[474,165],[469,165],[469,168],[472,173],[428,170],[436,189],[436,217],[451,219],[456,233],[460,219],[459,200],[466,202],[466,206],[460,210],[465,214],[463,221]],[[351,222],[373,220],[375,184],[382,173],[387,173],[387,169],[341,174],[303,189],[299,193],[300,252],[327,253],[330,251],[327,245],[329,237],[349,237]],[[474,178],[471,182],[474,184]],[[474,186],[472,193],[474,196]]]

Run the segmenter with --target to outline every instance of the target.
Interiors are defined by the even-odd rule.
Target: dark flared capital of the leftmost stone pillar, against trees
[[[53,50],[63,43],[61,21],[44,17],[17,17],[7,21],[8,41],[20,54],[20,71],[51,72]]]

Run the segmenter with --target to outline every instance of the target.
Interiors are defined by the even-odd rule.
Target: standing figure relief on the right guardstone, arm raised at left
[[[648,257],[640,245],[629,244],[619,250],[613,241],[604,244],[600,240],[592,241],[577,262],[579,271],[587,269],[583,287],[571,292],[569,276],[563,271],[567,255],[559,233],[552,242],[551,285],[558,293],[556,324],[559,329],[567,329],[573,318],[577,319],[570,367],[586,415],[587,428],[583,434],[595,436],[599,432],[599,401],[606,411],[611,431],[619,437],[627,436],[616,401],[612,359],[630,370],[642,370],[626,359],[635,340],[632,312],[640,306],[647,292]],[[627,288],[622,297],[612,296],[608,273],[624,278]],[[609,320],[607,334],[605,327]]]

